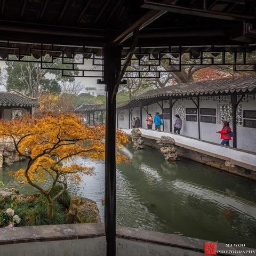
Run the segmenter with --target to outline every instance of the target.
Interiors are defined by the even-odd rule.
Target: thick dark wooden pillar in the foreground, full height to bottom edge
[[[107,90],[105,139],[105,233],[107,256],[116,255],[116,92],[121,70],[121,47],[106,45],[104,81]]]

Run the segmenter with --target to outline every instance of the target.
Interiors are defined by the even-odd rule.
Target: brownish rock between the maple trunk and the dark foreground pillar
[[[97,204],[87,198],[71,197],[67,223],[101,222]]]

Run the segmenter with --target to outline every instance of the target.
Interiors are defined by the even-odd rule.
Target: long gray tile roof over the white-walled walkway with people
[[[150,90],[134,97],[133,100],[150,99],[165,96],[193,96],[226,94],[230,92],[252,92],[256,90],[256,76],[239,76],[219,80],[180,83],[161,89]]]

